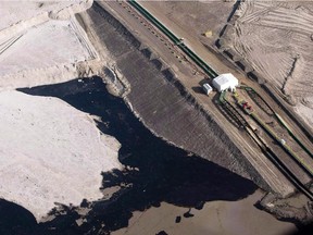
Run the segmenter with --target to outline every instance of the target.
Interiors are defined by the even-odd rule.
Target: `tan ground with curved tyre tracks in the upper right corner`
[[[311,129],[312,25],[310,1],[243,1],[223,35],[223,47],[273,85]]]

